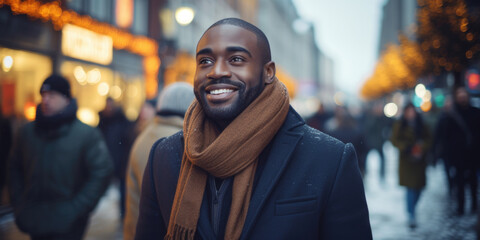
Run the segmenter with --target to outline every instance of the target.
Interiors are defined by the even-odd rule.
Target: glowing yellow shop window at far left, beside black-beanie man
[[[40,86],[52,73],[49,57],[0,48],[0,101],[2,115],[32,121],[41,101]]]

